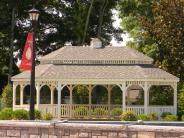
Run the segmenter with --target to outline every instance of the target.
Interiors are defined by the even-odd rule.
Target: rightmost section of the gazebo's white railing
[[[159,116],[161,116],[163,112],[175,114],[175,108],[174,106],[149,106],[148,113],[152,112],[157,113]]]

